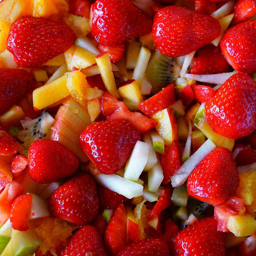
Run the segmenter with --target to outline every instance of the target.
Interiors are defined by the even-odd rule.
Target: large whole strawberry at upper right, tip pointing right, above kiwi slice
[[[218,20],[184,7],[164,7],[154,18],[153,38],[156,47],[170,57],[193,52],[210,43],[219,34]]]

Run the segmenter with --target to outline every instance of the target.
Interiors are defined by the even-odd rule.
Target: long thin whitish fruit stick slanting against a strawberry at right
[[[215,144],[211,140],[206,140],[203,145],[181,165],[176,174],[172,176],[172,186],[180,187],[183,185],[195,167],[204,159],[205,156],[211,153],[215,147]]]

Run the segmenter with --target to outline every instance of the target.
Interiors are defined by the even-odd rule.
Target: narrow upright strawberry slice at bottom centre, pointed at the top
[[[104,235],[107,249],[116,255],[126,243],[126,210],[119,204],[108,222]]]

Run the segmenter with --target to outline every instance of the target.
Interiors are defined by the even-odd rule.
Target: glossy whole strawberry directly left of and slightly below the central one
[[[37,183],[51,183],[73,174],[78,168],[75,154],[53,140],[37,140],[28,151],[29,177]]]

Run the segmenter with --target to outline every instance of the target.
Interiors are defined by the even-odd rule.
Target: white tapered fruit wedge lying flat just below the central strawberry
[[[143,186],[120,177],[116,174],[98,174],[95,175],[95,179],[108,189],[115,191],[116,193],[123,195],[127,198],[133,198],[143,195]]]

